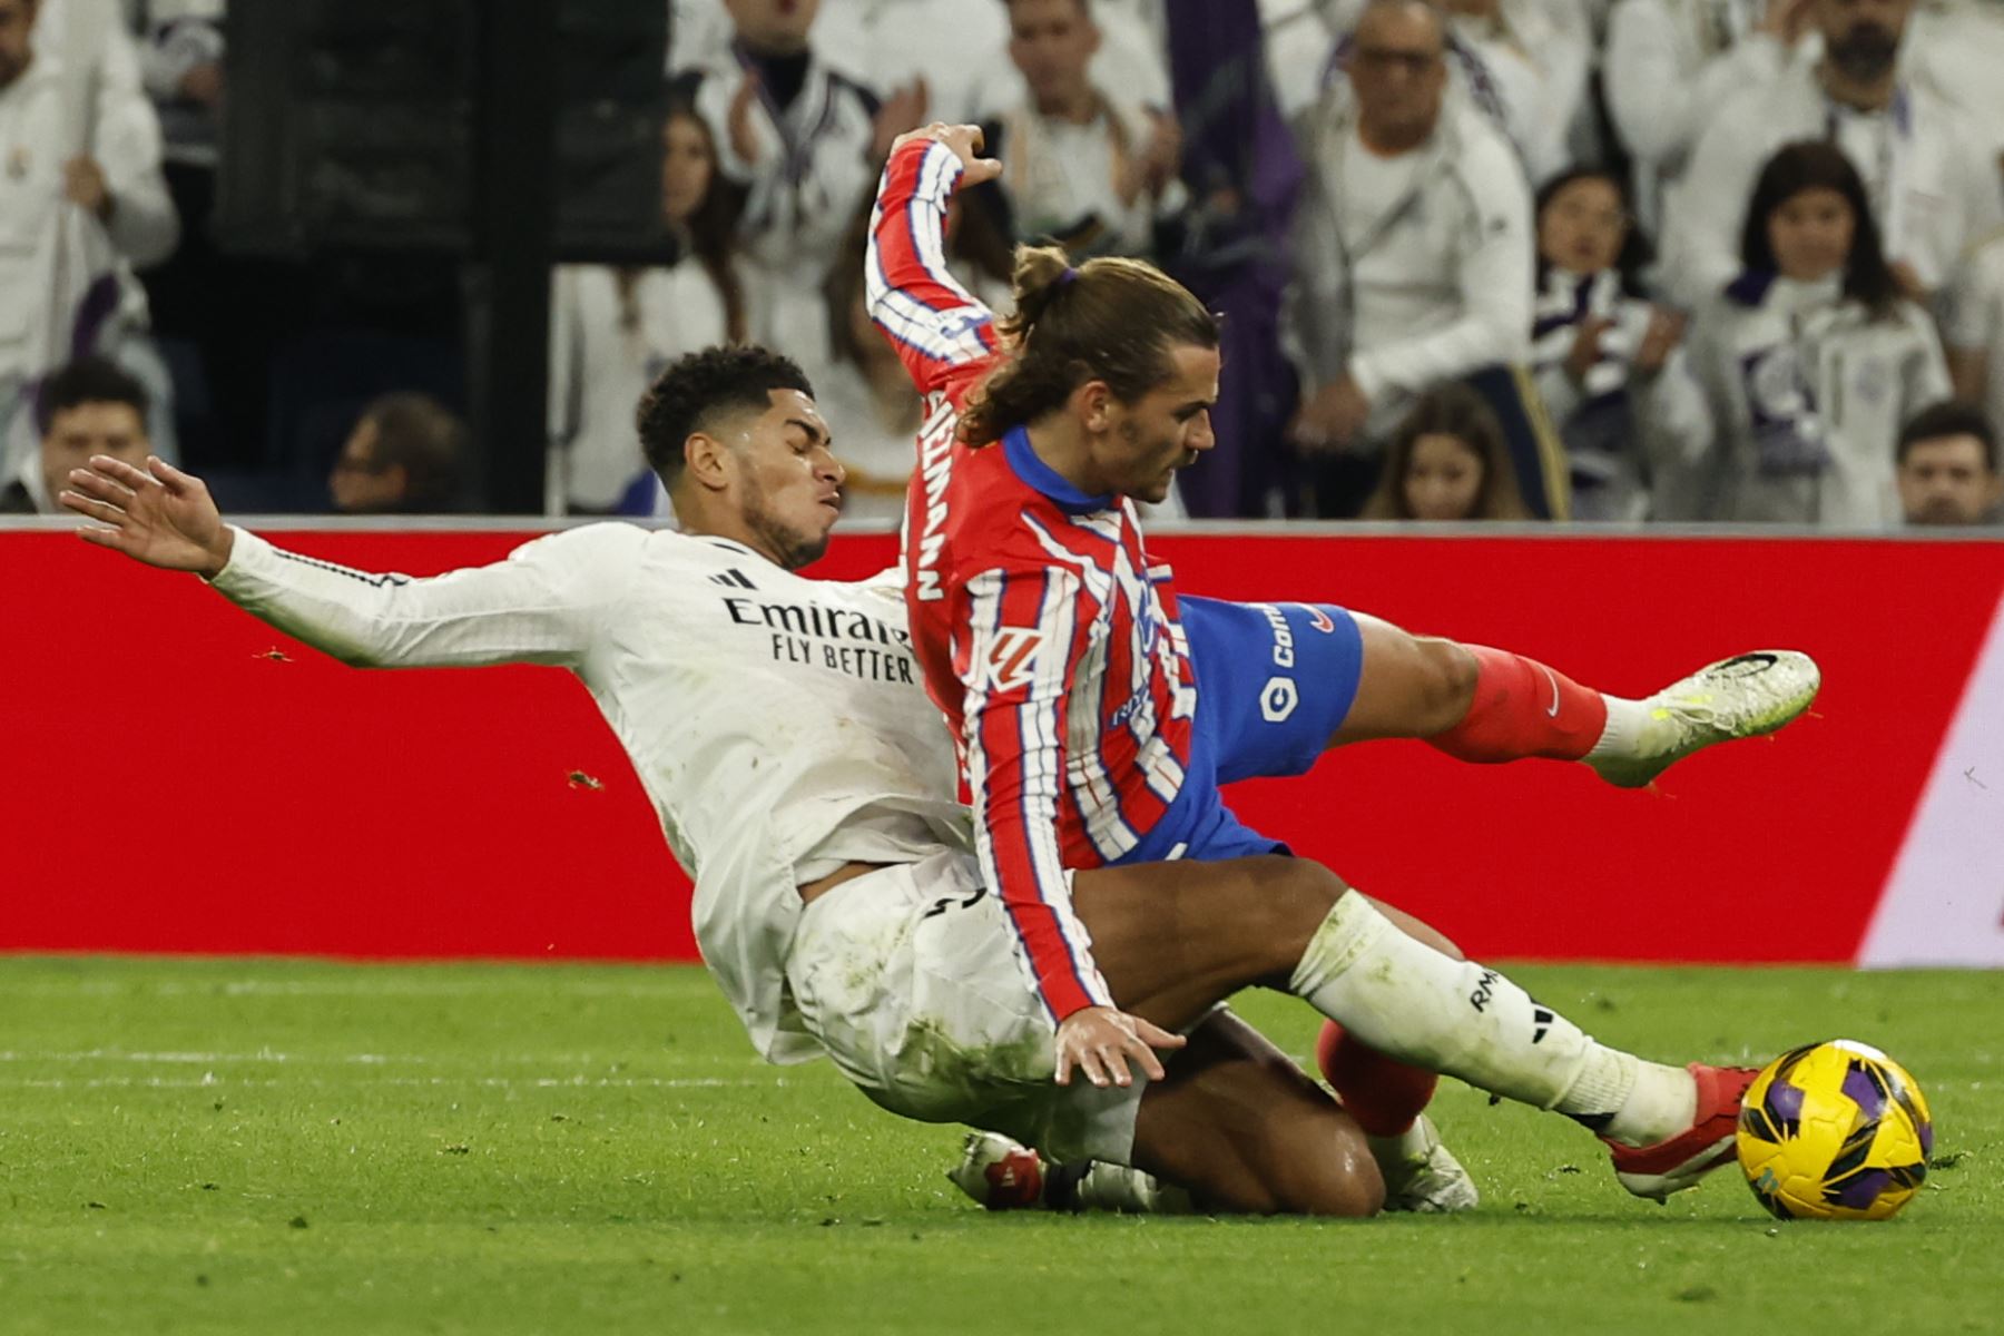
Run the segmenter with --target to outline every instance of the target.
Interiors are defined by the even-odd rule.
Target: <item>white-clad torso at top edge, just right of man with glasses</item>
[[[1445,0],[1463,76],[1495,108],[1531,182],[1591,146],[1587,76],[1593,36],[1569,0]]]

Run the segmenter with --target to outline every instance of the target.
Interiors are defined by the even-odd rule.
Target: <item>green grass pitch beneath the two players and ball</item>
[[[1735,1170],[1657,1208],[1449,1082],[1469,1216],[990,1216],[952,1128],[764,1066],[693,967],[0,957],[0,1332],[2004,1328],[1996,975],[1513,973],[1661,1058],[1880,1044],[1928,1186],[1868,1226],[1774,1222]]]

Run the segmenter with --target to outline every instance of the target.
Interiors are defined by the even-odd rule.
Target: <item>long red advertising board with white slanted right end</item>
[[[427,575],[527,535],[273,537]],[[1230,791],[1469,951],[1848,961],[1870,931],[1880,963],[2004,963],[2004,731],[1982,725],[2004,717],[2004,543],[1271,529],[1152,549],[1188,593],[1341,601],[1627,695],[1741,649],[1822,661],[1814,715],[1653,793],[1421,743]],[[892,551],[850,537],[816,573]],[[0,531],[0,949],[693,957],[687,879],[565,673],[347,669],[66,533]],[[1962,905],[1946,941],[1936,893]]]

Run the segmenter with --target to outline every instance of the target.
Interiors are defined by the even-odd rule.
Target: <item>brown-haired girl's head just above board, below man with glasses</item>
[[[1531,519],[1503,425],[1467,385],[1439,385],[1413,405],[1385,451],[1365,519]]]

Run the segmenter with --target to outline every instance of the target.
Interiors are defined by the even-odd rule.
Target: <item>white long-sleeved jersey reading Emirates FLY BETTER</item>
[[[703,961],[774,1062],[820,1056],[786,995],[796,887],[972,849],[896,569],[814,581],[725,539],[587,525],[411,579],[234,535],[214,587],[345,663],[573,671],[695,877]]]

